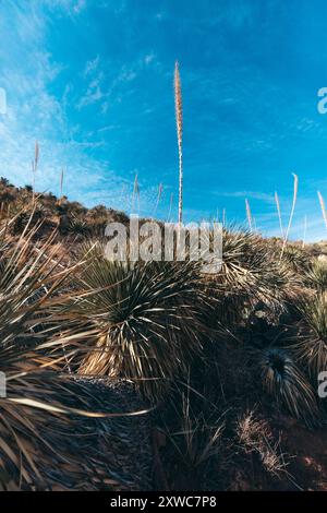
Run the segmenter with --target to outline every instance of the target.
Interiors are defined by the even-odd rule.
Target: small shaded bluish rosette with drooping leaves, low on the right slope
[[[281,407],[312,426],[318,415],[314,391],[293,358],[280,348],[269,348],[261,360],[263,386]]]

